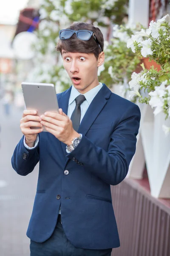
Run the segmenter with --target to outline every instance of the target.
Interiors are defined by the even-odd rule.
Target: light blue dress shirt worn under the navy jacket
[[[97,85],[96,87],[94,87],[93,89],[89,90],[87,93],[84,93],[83,95],[85,96],[85,101],[82,102],[80,108],[81,108],[81,118],[80,118],[80,123],[86,113],[86,111],[88,110],[89,105],[91,104],[92,100],[94,99],[94,97],[96,96],[96,94],[99,92],[99,90],[102,88],[103,84],[99,83],[99,85]],[[79,96],[81,93],[79,93],[79,91],[72,85],[71,88],[71,93],[70,93],[70,98],[68,101],[68,112],[67,115],[69,118],[71,118],[71,115],[74,111],[74,108],[76,107],[76,97]],[[27,149],[33,149],[37,146],[39,142],[39,136],[37,136],[37,140],[35,141],[34,147],[28,147],[28,145],[26,145],[26,141],[25,141],[25,136],[24,136],[24,146]],[[59,209],[59,214],[61,214],[61,209]]]

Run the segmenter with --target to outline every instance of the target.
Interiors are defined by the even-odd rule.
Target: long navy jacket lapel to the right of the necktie
[[[83,117],[79,126],[78,133],[85,135],[88,132],[96,117],[105,107],[105,104],[110,96],[111,90],[105,84],[103,84],[103,87],[99,90],[88,107],[88,110],[86,111],[85,116]]]

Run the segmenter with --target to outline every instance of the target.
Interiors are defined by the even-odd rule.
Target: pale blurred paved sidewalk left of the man
[[[27,176],[18,175],[11,166],[14,148],[22,137],[23,111],[12,109],[5,116],[0,105],[0,256],[29,256],[26,236],[36,193],[38,165]]]

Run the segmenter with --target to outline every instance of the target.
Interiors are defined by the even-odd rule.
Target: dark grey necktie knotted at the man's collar
[[[78,131],[79,124],[80,124],[80,118],[81,118],[81,108],[80,108],[80,105],[82,104],[82,102],[85,101],[85,96],[80,94],[79,96],[77,96],[75,101],[76,101],[76,107],[74,108],[74,111],[73,111],[73,113],[71,115],[71,121],[73,123],[74,130]]]

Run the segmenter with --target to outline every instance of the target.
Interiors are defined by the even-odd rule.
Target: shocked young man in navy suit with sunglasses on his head
[[[110,185],[127,175],[140,111],[98,81],[99,28],[75,23],[59,35],[57,50],[73,85],[57,95],[59,113],[24,111],[24,136],[12,157],[20,175],[40,161],[27,230],[31,256],[110,256],[120,246]],[[30,129],[35,124],[39,129]]]

